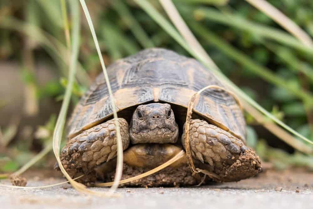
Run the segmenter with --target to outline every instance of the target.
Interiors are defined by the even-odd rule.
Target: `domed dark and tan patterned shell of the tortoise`
[[[188,102],[197,91],[208,85],[224,87],[198,61],[159,48],[146,49],[117,60],[107,68],[107,72],[117,112],[149,102],[178,105],[187,112]],[[245,141],[243,114],[228,92],[221,89],[203,91],[195,101],[193,111]],[[69,123],[69,138],[112,115],[108,89],[101,73],[74,109]]]

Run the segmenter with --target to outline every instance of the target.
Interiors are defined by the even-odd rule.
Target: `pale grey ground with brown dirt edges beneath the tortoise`
[[[29,174],[28,174],[29,175]],[[64,179],[28,176],[27,186]],[[1,181],[9,184],[8,180]],[[282,187],[282,191],[280,190]],[[107,191],[107,188],[92,188]],[[267,171],[238,183],[189,188],[120,188],[120,198],[80,195],[70,185],[46,189],[0,187],[1,208],[313,208],[313,173]]]

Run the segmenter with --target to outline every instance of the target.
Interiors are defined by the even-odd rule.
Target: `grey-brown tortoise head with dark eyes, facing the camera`
[[[129,133],[132,144],[175,143],[178,126],[171,106],[162,103],[138,106],[133,113]]]

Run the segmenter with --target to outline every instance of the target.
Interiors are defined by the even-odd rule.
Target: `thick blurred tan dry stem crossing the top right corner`
[[[264,0],[246,0],[255,8],[265,13],[272,18],[277,24],[285,28],[289,33],[297,37],[303,44],[313,47],[313,41],[310,36],[305,33],[297,24],[295,24],[290,18],[284,15],[280,10],[272,6],[270,3]]]

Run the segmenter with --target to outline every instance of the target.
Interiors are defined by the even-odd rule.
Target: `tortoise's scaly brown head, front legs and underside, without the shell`
[[[179,130],[169,104],[140,105],[134,111],[129,126],[123,118],[118,118],[118,122],[125,150],[125,175],[122,178],[157,167],[185,149],[185,128],[182,130],[181,143],[177,142]],[[189,137],[191,155],[196,165],[218,176],[210,176],[215,181],[239,181],[261,171],[260,159],[252,149],[245,146],[242,140],[207,121],[191,120]],[[62,165],[73,178],[85,174],[78,180],[85,184],[96,180],[113,180],[116,140],[114,119],[90,128],[70,139],[64,146],[60,155]],[[167,169],[127,185],[198,183],[199,179],[188,169],[185,157]]]

